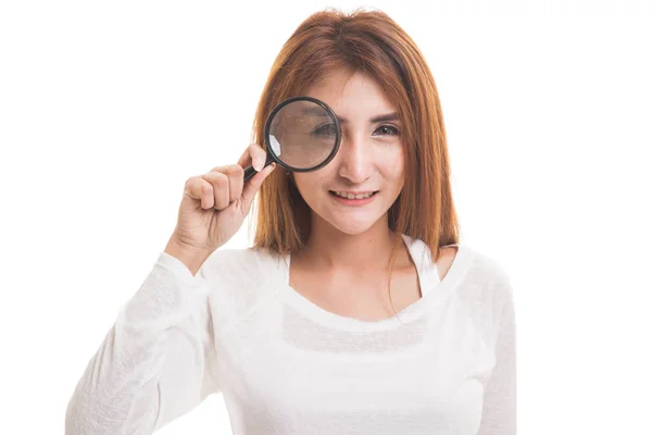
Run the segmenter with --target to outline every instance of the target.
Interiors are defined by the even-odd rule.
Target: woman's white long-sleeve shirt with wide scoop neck
[[[422,298],[371,322],[289,286],[289,256],[162,252],[74,391],[66,434],[151,434],[221,393],[236,435],[513,435],[516,341],[502,268],[466,245],[442,281],[403,236]]]

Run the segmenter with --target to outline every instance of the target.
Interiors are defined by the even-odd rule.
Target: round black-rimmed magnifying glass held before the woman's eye
[[[291,172],[309,172],[325,166],[337,153],[340,125],[333,109],[312,97],[292,97],[281,101],[265,122],[267,158],[265,166],[276,162]],[[244,183],[256,171],[244,169]]]

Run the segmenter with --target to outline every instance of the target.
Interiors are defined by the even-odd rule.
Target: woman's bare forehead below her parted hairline
[[[378,82],[359,72],[336,71],[326,74],[309,87],[305,95],[324,101],[339,116],[368,117],[396,111],[396,105]]]

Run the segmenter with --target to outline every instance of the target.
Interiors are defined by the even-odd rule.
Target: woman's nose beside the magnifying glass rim
[[[361,184],[372,176],[373,150],[363,133],[344,135],[338,150],[338,175]]]

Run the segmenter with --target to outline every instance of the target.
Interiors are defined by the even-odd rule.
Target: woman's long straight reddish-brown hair
[[[423,240],[436,260],[439,247],[459,243],[460,233],[439,95],[414,41],[384,12],[328,9],[301,23],[272,65],[252,140],[264,146],[264,123],[276,104],[302,95],[327,72],[342,70],[374,78],[397,107],[406,177],[388,211],[389,226]],[[303,246],[310,209],[285,170],[277,167],[263,183],[255,209],[254,248],[292,253]],[[397,248],[400,243],[397,238]]]

